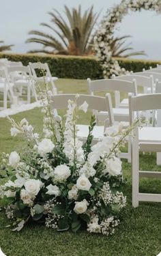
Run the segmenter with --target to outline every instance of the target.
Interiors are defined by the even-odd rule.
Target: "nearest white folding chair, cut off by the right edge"
[[[161,109],[161,94],[145,94],[129,96],[130,123],[134,121],[136,111]],[[158,171],[141,171],[139,169],[139,152],[161,152],[161,128],[135,128],[132,138],[132,205],[138,206],[139,201],[161,202],[161,194],[140,193],[139,177],[161,177]]]

